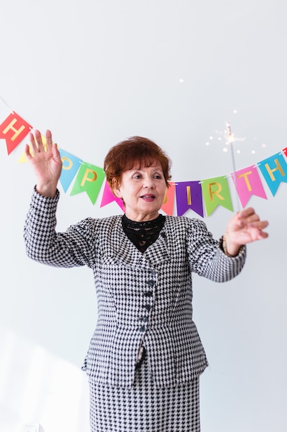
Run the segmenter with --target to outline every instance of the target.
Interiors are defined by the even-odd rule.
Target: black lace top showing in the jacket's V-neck
[[[156,219],[152,219],[147,222],[135,222],[126,215],[123,215],[121,223],[123,225],[123,230],[130,239],[130,241],[135,244],[139,251],[144,252],[152,243],[155,243],[159,233],[164,226],[166,217],[164,215],[159,215]]]

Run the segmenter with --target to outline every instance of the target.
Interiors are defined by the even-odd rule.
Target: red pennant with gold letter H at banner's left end
[[[0,125],[0,138],[6,140],[8,155],[28,135],[32,126],[23,120],[16,112],[11,112]]]

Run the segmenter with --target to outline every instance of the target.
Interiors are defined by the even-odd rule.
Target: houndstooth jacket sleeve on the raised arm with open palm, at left
[[[85,219],[65,233],[57,233],[58,201],[59,190],[53,198],[43,197],[34,190],[24,226],[26,253],[50,266],[91,267],[95,259],[95,219]]]

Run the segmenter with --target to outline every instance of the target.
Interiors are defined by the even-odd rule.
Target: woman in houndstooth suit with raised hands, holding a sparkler
[[[208,362],[192,321],[192,272],[215,282],[244,266],[245,244],[264,239],[253,208],[233,215],[216,241],[204,222],[159,213],[170,160],[149,139],[110,149],[104,170],[125,214],[85,219],[57,233],[61,157],[46,132],[30,135],[37,175],[26,219],[28,256],[51,266],[90,267],[98,321],[83,370],[91,431],[200,431],[199,375]]]

